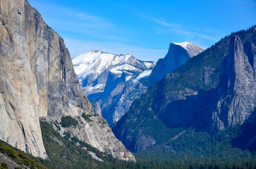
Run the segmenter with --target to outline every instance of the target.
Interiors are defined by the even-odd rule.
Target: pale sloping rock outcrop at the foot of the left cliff
[[[60,132],[62,136],[76,137],[82,142],[88,143],[97,148],[101,152],[107,152],[114,158],[125,161],[135,161],[133,154],[125,149],[122,142],[116,139],[112,130],[108,126],[108,122],[97,114],[88,114],[86,119],[82,115],[73,116],[78,122],[74,126],[61,125],[61,117],[43,117],[42,121],[52,124],[54,129]]]

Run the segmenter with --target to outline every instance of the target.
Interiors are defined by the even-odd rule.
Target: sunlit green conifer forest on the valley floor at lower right
[[[240,128],[226,129],[216,135],[190,128],[175,139],[150,147],[136,156],[148,163],[162,163],[168,166],[166,168],[256,168],[255,152],[232,146],[232,140],[241,135]]]

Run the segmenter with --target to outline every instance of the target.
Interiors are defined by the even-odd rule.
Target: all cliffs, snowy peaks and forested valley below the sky
[[[256,168],[256,26],[153,62],[71,59],[28,0],[0,21],[0,168]]]

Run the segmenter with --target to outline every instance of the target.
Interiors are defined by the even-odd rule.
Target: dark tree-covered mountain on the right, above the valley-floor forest
[[[192,127],[214,134],[243,124],[256,105],[255,44],[256,27],[239,31],[168,73],[113,126],[116,137],[131,151],[140,151],[136,147],[148,143],[140,140],[161,143],[169,129]],[[255,128],[252,121],[250,126]]]

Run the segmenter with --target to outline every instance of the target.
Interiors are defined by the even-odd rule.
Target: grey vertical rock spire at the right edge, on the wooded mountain
[[[218,89],[221,95],[212,114],[214,128],[242,124],[255,110],[256,47],[239,36],[230,40],[228,56],[223,60]]]

